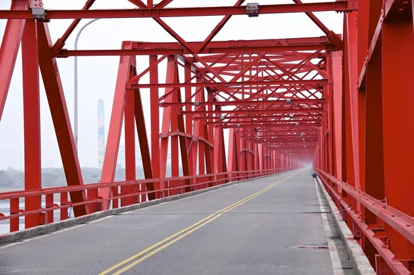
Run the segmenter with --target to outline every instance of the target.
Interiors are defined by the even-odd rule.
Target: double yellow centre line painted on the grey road
[[[164,248],[172,245],[173,243],[177,242],[178,240],[181,240],[181,238],[184,238],[185,236],[193,233],[197,229],[200,229],[201,227],[204,227],[204,225],[207,225],[208,223],[212,222],[216,218],[219,218],[219,216],[223,215],[224,213],[226,213],[226,212],[228,212],[232,209],[235,209],[239,205],[242,205],[245,202],[248,202],[249,200],[252,200],[253,198],[256,198],[261,193],[264,193],[264,192],[268,191],[270,188],[274,187],[275,185],[277,185],[281,182],[284,182],[285,180],[288,180],[289,178],[292,178],[296,174],[297,173],[293,174],[292,176],[288,176],[287,178],[284,178],[283,180],[279,180],[278,182],[270,184],[268,187],[258,191],[257,193],[254,193],[253,195],[248,196],[247,198],[244,198],[243,200],[239,200],[238,202],[233,203],[233,205],[229,205],[228,207],[226,207],[224,209],[221,209],[221,210],[215,212],[214,214],[211,214],[210,216],[207,216],[206,218],[204,218],[202,220],[199,220],[194,225],[190,225],[189,227],[187,227],[185,229],[182,229],[181,231],[177,232],[176,234],[174,234],[172,236],[169,236],[168,238],[165,238],[164,240],[161,240],[160,242],[156,243],[155,245],[152,245],[152,246],[148,247],[147,249],[144,249],[143,251],[139,252],[138,254],[135,254],[134,256],[131,256],[130,258],[127,258],[126,260],[121,261],[117,265],[114,265],[113,267],[110,267],[110,268],[106,269],[105,271],[99,273],[99,275],[108,274],[108,273],[114,271],[115,269],[118,269],[119,267],[122,267],[122,266],[126,265],[127,263],[129,263],[129,265],[126,265],[125,267],[123,267],[122,269],[119,269],[117,272],[115,272],[113,274],[117,275],[117,274],[121,274],[123,272],[126,272],[126,270],[130,269],[131,267],[133,267],[133,266],[135,266],[139,263],[141,263],[146,258],[149,258],[150,256],[156,254],[157,252],[161,251],[162,249],[164,249]],[[146,255],[143,256],[144,254],[146,254]],[[130,263],[130,262],[132,262],[132,263]]]

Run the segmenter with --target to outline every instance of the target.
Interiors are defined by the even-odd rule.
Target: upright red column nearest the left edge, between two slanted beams
[[[40,95],[37,30],[34,19],[26,20],[21,40],[23,61],[24,189],[41,188]],[[25,198],[25,211],[39,210],[41,197]],[[25,228],[40,225],[40,214],[26,216]]]

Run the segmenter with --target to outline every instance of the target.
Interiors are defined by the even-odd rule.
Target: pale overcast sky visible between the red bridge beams
[[[155,0],[158,3],[159,0]],[[323,0],[322,0],[323,1]],[[328,1],[328,0],[325,0]],[[145,1],[144,1],[145,2]],[[250,1],[246,1],[250,2]],[[293,3],[290,0],[256,0],[259,5]],[[303,1],[318,2],[318,1]],[[319,1],[320,2],[320,1]],[[43,0],[49,10],[80,9],[84,0]],[[233,6],[235,0],[175,0],[168,7]],[[8,9],[10,1],[0,1],[0,9]],[[127,0],[96,0],[92,9],[134,8]],[[342,14],[315,12],[328,28],[342,33]],[[166,18],[164,21],[186,41],[203,41],[222,17]],[[68,28],[72,20],[55,19],[49,23],[55,42]],[[89,19],[83,19],[66,41],[65,48],[73,49],[75,36]],[[0,41],[6,20],[0,19]],[[290,37],[317,37],[324,33],[305,14],[278,14],[247,17],[233,16],[213,41],[231,39],[278,39]],[[153,19],[99,19],[83,30],[78,49],[119,49],[122,41],[175,41]],[[98,167],[97,101],[105,104],[105,130],[108,135],[112,99],[115,91],[119,57],[78,57],[79,77],[79,162],[81,167]],[[73,128],[73,77],[74,58],[58,59],[68,111]],[[137,57],[138,71],[148,66],[148,57]],[[159,66],[159,83],[165,83],[166,62]],[[181,72],[182,73],[182,72]],[[183,79],[184,74],[181,75]],[[181,80],[182,81],[182,80]],[[148,83],[148,76],[141,83]],[[42,167],[62,167],[55,130],[48,102],[41,83],[41,160]],[[149,102],[149,90],[142,89],[142,99]],[[162,95],[164,89],[159,89]],[[150,131],[149,104],[144,104],[147,131]],[[160,111],[161,112],[161,111]],[[149,136],[149,135],[148,135]],[[121,145],[124,144],[121,138]],[[21,53],[10,84],[8,98],[0,122],[0,169],[23,169],[23,97],[21,77]]]

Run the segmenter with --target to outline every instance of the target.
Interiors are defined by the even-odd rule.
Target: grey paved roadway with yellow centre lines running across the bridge
[[[0,274],[355,274],[310,169],[0,247]]]

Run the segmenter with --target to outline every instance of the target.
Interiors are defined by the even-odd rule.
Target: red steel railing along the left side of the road
[[[103,202],[108,202],[108,200],[111,202],[110,209],[115,209],[119,206],[124,207],[146,202],[148,200],[148,194],[150,193],[156,193],[157,198],[165,198],[228,182],[270,176],[288,170],[290,169],[232,171],[197,176],[83,184],[79,187],[48,187],[44,189],[3,192],[0,193],[0,203],[3,205],[3,207],[0,207],[0,210],[3,209],[3,212],[5,212],[4,210],[6,209],[9,214],[0,212],[0,222],[8,220],[9,232],[19,231],[21,220],[27,216],[37,215],[39,217],[39,225],[46,225],[55,222],[55,218],[57,218],[57,220],[66,220],[70,218],[68,210],[71,210],[78,205],[88,205],[89,214],[92,214],[96,211],[100,211],[101,208],[99,205],[102,205]],[[150,191],[146,188],[147,183],[153,183],[155,186],[164,186],[164,188],[156,188],[155,190]],[[101,198],[98,196],[99,189],[103,188],[110,188],[111,191],[108,198]],[[128,190],[126,190],[127,188]],[[74,191],[85,191],[88,200],[77,203],[70,202],[68,193]],[[26,198],[38,198],[39,201],[41,201],[39,209],[25,211],[23,208],[24,200]],[[55,216],[55,211],[60,212],[58,217]]]

